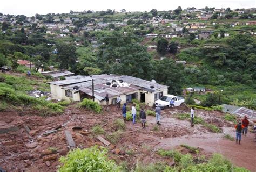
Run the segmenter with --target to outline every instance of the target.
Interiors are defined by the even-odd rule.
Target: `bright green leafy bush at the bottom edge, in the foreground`
[[[59,161],[62,163],[59,168],[60,172],[120,171],[120,167],[107,158],[107,149],[97,145],[86,149],[71,150],[65,157],[60,157]]]

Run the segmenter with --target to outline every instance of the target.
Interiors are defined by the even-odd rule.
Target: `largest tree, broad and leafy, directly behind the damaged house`
[[[139,45],[138,38],[131,37],[132,35],[127,35],[127,37],[121,37],[121,35],[114,31],[99,40],[105,43],[99,47],[97,60],[99,68],[104,73],[130,75],[151,80],[153,66],[146,47]]]

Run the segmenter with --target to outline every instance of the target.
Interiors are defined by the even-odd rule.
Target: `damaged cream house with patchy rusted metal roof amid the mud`
[[[83,98],[92,99],[94,93],[95,101],[105,105],[104,98],[108,94],[109,104],[116,104],[117,96],[120,95],[122,104],[138,99],[149,106],[166,95],[169,87],[132,76],[109,74],[71,76],[63,81],[50,82],[50,86],[53,99],[80,102]]]

